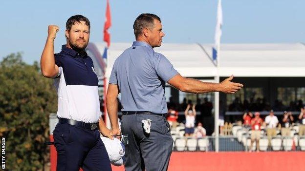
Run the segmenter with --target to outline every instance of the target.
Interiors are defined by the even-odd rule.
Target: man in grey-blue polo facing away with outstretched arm
[[[121,93],[122,134],[128,134],[126,171],[166,171],[172,153],[173,138],[165,115],[165,83],[188,93],[236,93],[242,84],[206,83],[181,76],[162,54],[164,33],[161,20],[154,14],[141,14],[133,24],[136,41],[114,62],[109,78],[107,109],[112,133],[119,134],[117,95]]]

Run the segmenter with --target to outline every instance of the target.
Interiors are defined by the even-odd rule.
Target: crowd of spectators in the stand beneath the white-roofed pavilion
[[[183,99],[181,104],[175,103],[170,97],[168,106],[168,115],[167,120],[171,125],[171,128],[175,128],[179,125],[179,123],[185,124],[185,136],[195,136],[202,137],[207,135],[207,131],[203,128],[203,121],[207,117],[212,117],[212,109],[213,104],[208,100],[208,98],[204,98],[203,102],[200,99],[197,99],[196,103],[193,103],[192,100]],[[222,105],[221,105],[222,106]],[[221,107],[220,107],[221,108]],[[118,110],[122,109],[121,104],[118,105]],[[272,109],[272,110],[271,110]],[[301,109],[300,115],[292,115],[291,112],[286,111],[299,111]],[[200,115],[196,115],[198,112]],[[223,134],[222,129],[224,123],[231,123],[231,120],[224,119],[224,113],[226,109],[220,109],[219,111],[219,123],[220,123],[220,134]],[[269,143],[271,137],[277,135],[277,130],[280,130],[283,136],[290,135],[290,130],[292,124],[294,122],[300,123],[300,135],[305,135],[305,108],[302,100],[298,100],[297,102],[290,102],[289,106],[284,106],[280,100],[276,100],[274,105],[271,106],[268,102],[266,102],[265,98],[257,98],[254,100],[253,98],[248,100],[244,100],[243,103],[240,102],[240,98],[235,98],[235,100],[227,106],[227,111],[230,112],[241,112],[246,111],[242,115],[243,126],[252,130],[253,134],[251,134],[252,143],[254,141],[258,141],[258,132],[264,130],[266,135],[268,136]],[[248,111],[257,111],[254,114]],[[261,117],[261,111],[269,111],[269,115],[266,117]],[[274,115],[275,111],[284,111],[283,115],[278,117]],[[184,115],[179,115],[179,112],[184,112]],[[221,113],[221,114],[220,114]],[[221,117],[222,116],[222,117]],[[227,118],[229,119],[229,118]],[[233,123],[233,122],[232,122]],[[206,124],[206,123],[205,123]],[[197,125],[197,126],[196,126]],[[205,125],[207,126],[207,125]],[[208,128],[210,126],[207,126]],[[210,134],[209,134],[210,135]]]

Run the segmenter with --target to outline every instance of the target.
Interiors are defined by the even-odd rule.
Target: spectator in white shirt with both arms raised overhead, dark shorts
[[[192,106],[191,104],[188,104],[186,110],[184,111],[185,114],[185,136],[189,137],[192,136],[195,131],[195,118],[196,118],[196,110],[195,106]]]

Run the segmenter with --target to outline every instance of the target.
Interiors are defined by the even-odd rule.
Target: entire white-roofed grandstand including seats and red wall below
[[[112,65],[131,43],[112,43],[107,52],[107,63],[103,59],[105,44],[89,43],[88,55],[93,59],[96,73],[100,79],[99,93],[103,99],[103,79],[109,78]],[[185,77],[214,82],[217,68],[211,59],[212,44],[162,44],[155,49],[162,53],[174,65],[175,69]],[[179,113],[178,125],[171,130],[174,139],[173,153],[169,171],[185,170],[245,170],[253,163],[260,163],[262,168],[278,168],[282,170],[299,170],[304,168],[302,155],[305,151],[305,136],[299,136],[300,114],[299,104],[305,101],[305,45],[303,43],[283,44],[222,44],[219,76],[220,81],[234,74],[234,81],[241,82],[245,87],[235,95],[220,94],[220,112],[224,114],[225,124],[219,138],[219,152],[215,151],[214,109],[206,116],[205,110],[198,109],[197,121],[203,123],[207,136],[196,138],[185,137],[183,108],[176,109]],[[105,68],[107,66],[107,68]],[[106,71],[104,73],[104,71]],[[181,106],[184,98],[198,103],[204,98],[214,104],[214,94],[185,94],[167,85],[166,98],[169,104]],[[170,98],[171,100],[170,101]],[[240,108],[232,107],[239,99]],[[261,108],[246,108],[245,100],[264,104]],[[262,103],[264,102],[264,103]],[[293,105],[291,105],[293,102]],[[298,103],[298,104],[297,104]],[[281,105],[279,105],[281,104]],[[303,102],[302,102],[303,105]],[[301,106],[302,106],[301,105]],[[283,114],[284,110],[292,111],[295,122],[291,126],[290,136],[282,136],[277,127],[277,135],[272,137],[268,147],[266,130],[262,127],[259,140],[260,152],[250,151],[251,130],[242,125],[243,110],[261,111],[261,115],[269,114],[275,109],[275,115]],[[280,119],[279,119],[280,120]],[[56,125],[56,115],[50,115],[50,139]],[[257,149],[252,146],[252,151]],[[233,153],[232,153],[233,152]],[[56,151],[51,147],[51,163],[54,168]],[[289,157],[287,157],[289,154]],[[53,156],[53,157],[52,157]],[[234,156],[234,157],[232,157]],[[270,163],[272,165],[270,165]],[[289,165],[287,165],[289,163]],[[274,167],[276,164],[276,167]],[[124,167],[113,167],[113,171],[123,171]]]

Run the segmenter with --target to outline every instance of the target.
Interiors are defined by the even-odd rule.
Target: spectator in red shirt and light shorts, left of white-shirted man
[[[256,141],[256,151],[259,152],[259,141],[261,139],[261,124],[262,119],[260,113],[254,113],[255,117],[251,119],[251,144],[249,151],[252,151],[254,141]]]

